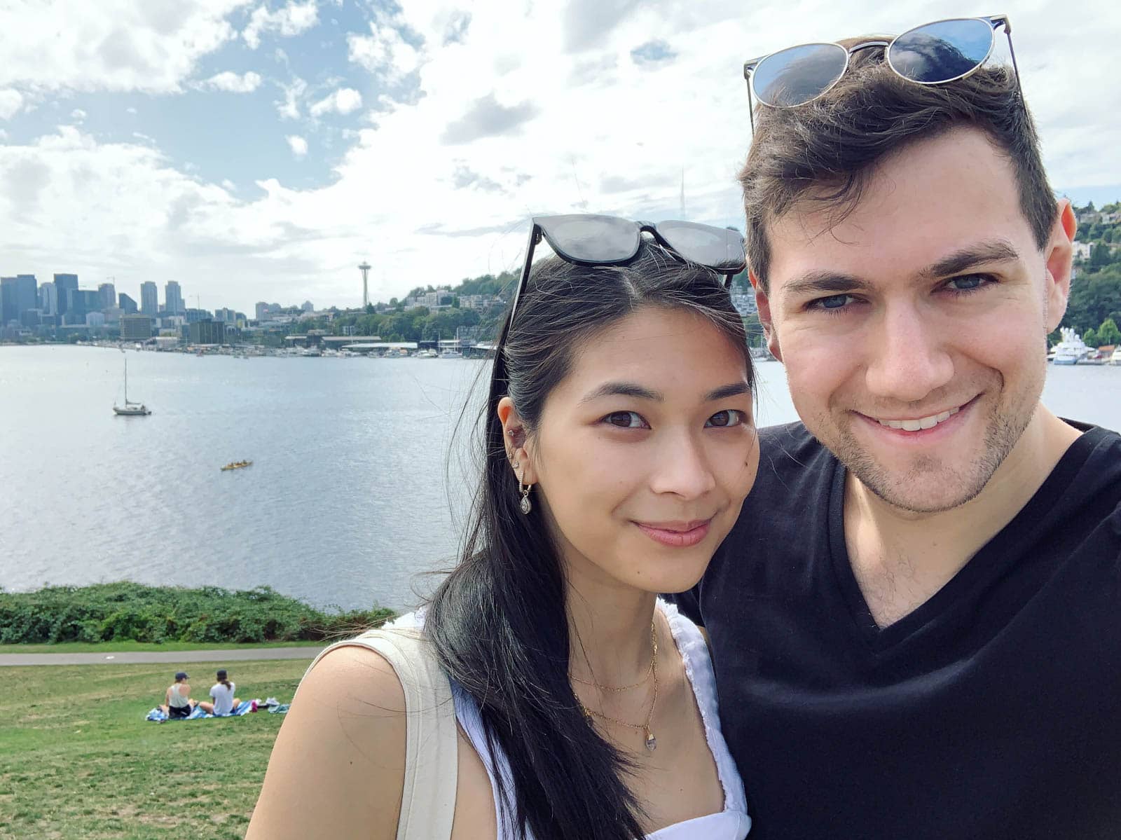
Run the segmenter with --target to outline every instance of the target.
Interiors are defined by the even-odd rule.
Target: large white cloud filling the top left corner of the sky
[[[235,37],[226,16],[245,0],[15,0],[0,12],[0,86],[180,90],[196,62]]]

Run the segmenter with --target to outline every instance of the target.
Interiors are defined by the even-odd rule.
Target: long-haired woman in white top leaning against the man
[[[531,244],[578,250],[550,231],[564,219],[603,244],[603,216],[535,220]],[[750,825],[705,644],[657,601],[700,580],[754,480],[751,360],[720,277],[742,242],[715,271],[661,225],[641,228],[649,241],[613,222],[634,229],[622,265],[593,248],[580,253],[595,265],[554,257],[530,275],[527,255],[461,561],[417,620],[458,723],[453,840],[741,840]],[[405,785],[404,698],[364,647],[313,665],[248,837],[405,836],[402,794],[425,791]]]

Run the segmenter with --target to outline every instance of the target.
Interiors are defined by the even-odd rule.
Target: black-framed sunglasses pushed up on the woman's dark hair
[[[633,222],[614,215],[577,213],[572,215],[540,215],[534,218],[526,247],[526,261],[521,278],[513,294],[510,319],[503,335],[513,323],[518,298],[529,281],[534,264],[534,249],[544,238],[560,259],[577,266],[621,266],[638,256],[642,234],[686,262],[693,262],[725,275],[724,285],[747,266],[743,237],[728,228],[713,228],[696,222]]]

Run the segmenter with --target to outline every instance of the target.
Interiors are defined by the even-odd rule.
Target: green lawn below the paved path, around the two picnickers
[[[307,664],[230,675],[239,696],[285,703]],[[164,664],[0,668],[0,838],[242,838],[284,716],[150,723],[168,677]]]

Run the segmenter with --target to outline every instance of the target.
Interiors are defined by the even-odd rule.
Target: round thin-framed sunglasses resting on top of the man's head
[[[937,20],[909,29],[890,40],[865,40],[852,47],[799,44],[752,58],[743,65],[751,130],[756,128],[754,114],[751,113],[753,109],[750,108],[752,94],[770,108],[794,108],[813,102],[841,81],[853,53],[859,49],[882,47],[888,66],[916,84],[946,84],[965,79],[992,55],[1000,27],[1008,36],[1008,49],[1019,90],[1020,72],[1012,49],[1012,25],[1007,15]],[[1022,93],[1020,99],[1023,99]]]

